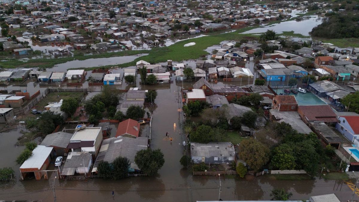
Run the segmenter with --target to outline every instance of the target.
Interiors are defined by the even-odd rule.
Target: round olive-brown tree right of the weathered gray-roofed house
[[[252,170],[258,171],[269,161],[269,149],[256,139],[245,139],[239,145],[239,156]]]

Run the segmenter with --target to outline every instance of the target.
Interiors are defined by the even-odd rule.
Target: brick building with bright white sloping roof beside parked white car
[[[23,180],[28,174],[33,174],[36,180],[40,180],[42,176],[48,179],[47,172],[44,170],[50,165],[52,149],[53,147],[43,145],[34,148],[32,156],[20,166],[20,178]]]

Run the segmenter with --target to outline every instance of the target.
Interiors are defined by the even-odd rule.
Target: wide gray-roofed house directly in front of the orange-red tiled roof
[[[146,137],[112,137],[104,139],[97,159],[92,169],[92,173],[97,173],[97,166],[103,161],[112,163],[117,157],[126,157],[131,165],[130,172],[139,171],[135,163],[136,153],[148,148],[148,138]]]

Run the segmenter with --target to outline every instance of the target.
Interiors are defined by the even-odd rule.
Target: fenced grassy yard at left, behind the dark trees
[[[57,97],[59,95],[59,97]],[[78,100],[81,100],[83,97],[83,92],[59,92],[59,93],[48,93],[45,98],[43,98],[40,102],[38,102],[35,107],[37,110],[44,110],[45,106],[47,106],[50,102],[59,102],[61,99],[66,98],[76,98]]]

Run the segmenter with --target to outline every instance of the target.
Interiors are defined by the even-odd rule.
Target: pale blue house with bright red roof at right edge
[[[348,138],[351,142],[359,139],[359,115],[358,116],[339,116],[339,122],[335,128]]]

